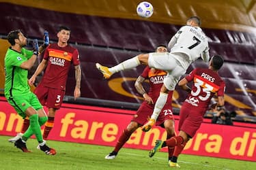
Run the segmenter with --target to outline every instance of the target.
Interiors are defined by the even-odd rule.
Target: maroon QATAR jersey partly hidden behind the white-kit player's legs
[[[164,78],[167,75],[167,72],[158,70],[158,69],[150,69],[150,67],[145,67],[143,73],[141,73],[141,77],[150,80],[150,90],[148,95],[152,98],[154,103],[159,97],[160,88],[164,83]],[[167,103],[171,104],[172,102],[173,91],[169,92]]]

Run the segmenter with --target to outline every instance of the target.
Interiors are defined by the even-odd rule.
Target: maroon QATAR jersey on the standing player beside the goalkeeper
[[[45,52],[44,59],[48,61],[41,83],[49,88],[66,90],[66,82],[70,65],[79,65],[79,52],[72,46],[59,47],[50,44]]]

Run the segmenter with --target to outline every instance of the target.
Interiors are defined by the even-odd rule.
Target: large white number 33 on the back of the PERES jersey
[[[192,90],[191,95],[195,97],[198,96],[201,101],[206,101],[210,97],[211,92],[214,92],[214,87],[211,86],[210,84],[207,84],[206,82],[203,82],[202,80],[199,80],[198,78],[195,78],[194,81],[195,81],[195,87],[197,88],[197,90],[195,92]],[[201,90],[203,90],[203,92],[201,92]]]

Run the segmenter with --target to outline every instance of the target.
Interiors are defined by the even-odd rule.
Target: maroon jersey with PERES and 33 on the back
[[[204,114],[215,93],[224,96],[225,82],[216,71],[197,68],[185,78],[188,82],[193,81],[193,86],[183,105],[196,107],[195,109]]]

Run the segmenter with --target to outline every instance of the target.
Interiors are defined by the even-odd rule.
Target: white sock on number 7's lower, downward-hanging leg
[[[156,120],[158,118],[162,108],[165,106],[165,103],[167,102],[167,97],[168,97],[168,93],[160,92],[160,95],[154,107],[153,114],[151,116],[152,119]]]

